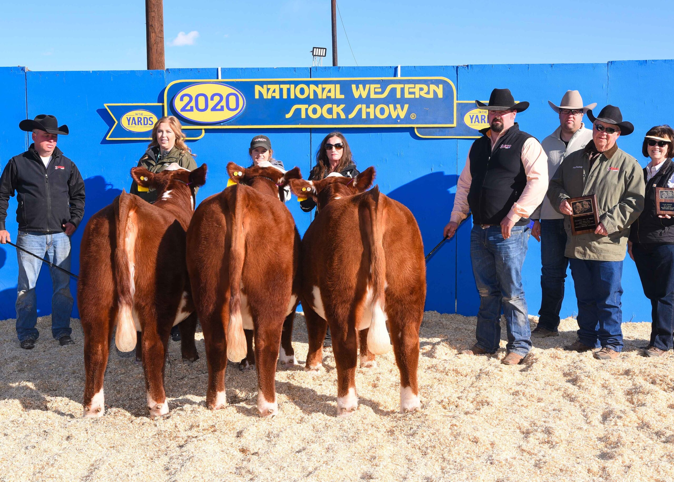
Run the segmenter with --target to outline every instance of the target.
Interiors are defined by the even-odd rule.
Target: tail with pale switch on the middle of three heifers
[[[229,324],[227,325],[227,358],[240,362],[248,352],[241,318],[241,273],[245,255],[243,234],[243,192],[241,184],[234,191],[234,216],[232,217],[232,244],[229,250]]]

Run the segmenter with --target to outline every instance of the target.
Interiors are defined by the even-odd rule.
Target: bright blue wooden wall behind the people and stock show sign
[[[329,78],[396,76],[395,67],[320,68],[222,68],[221,78]],[[557,103],[568,89],[578,89],[586,103],[607,103],[621,107],[625,119],[636,132],[620,138],[619,146],[634,155],[642,165],[642,136],[656,124],[673,122],[669,113],[674,104],[669,84],[674,78],[674,61],[615,61],[607,64],[460,65],[401,68],[402,76],[443,76],[457,87],[459,100],[486,100],[494,87],[508,87],[515,98],[529,101],[531,107],[518,114],[520,128],[539,140],[558,125],[557,115],[547,104]],[[106,141],[113,121],[104,103],[160,102],[163,89],[173,80],[215,79],[217,69],[170,69],[166,71],[26,72],[24,68],[0,68],[0,89],[5,92],[5,108],[0,117],[0,168],[7,159],[25,151],[29,138],[18,129],[22,119],[40,113],[56,115],[71,134],[60,136],[59,147],[71,157],[85,179],[88,217],[111,203],[122,188],[131,184],[129,169],[137,163],[146,141]],[[255,134],[272,139],[274,154],[286,168],[299,166],[305,176],[313,166],[315,150],[326,129],[237,130],[208,132],[190,142],[197,163],[208,163],[208,183],[197,202],[226,185],[228,161],[247,165],[247,148]],[[381,190],[404,203],[417,217],[428,252],[441,239],[449,219],[456,192],[456,180],[470,147],[470,140],[422,139],[413,129],[351,128],[342,130],[361,170],[377,169]],[[301,233],[311,215],[299,209],[293,197],[288,203]],[[9,203],[7,227],[16,240],[16,199]],[[441,313],[474,315],[479,304],[470,267],[469,223],[458,236],[446,243],[427,267],[426,308]],[[79,270],[79,244],[82,228],[73,235],[73,272]],[[0,319],[16,316],[16,252],[0,247]],[[570,273],[569,273],[570,274]],[[524,288],[529,313],[537,314],[541,302],[540,247],[531,238],[524,264]],[[576,313],[571,276],[562,315]],[[71,285],[73,295],[75,284]],[[650,321],[650,304],[644,297],[634,263],[627,258],[623,275],[623,319]],[[38,313],[51,313],[51,281],[47,269],[38,280]],[[78,317],[77,307],[73,317]]]

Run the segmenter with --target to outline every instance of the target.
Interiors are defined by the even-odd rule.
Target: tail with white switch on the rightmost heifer
[[[372,268],[372,322],[367,332],[367,349],[375,355],[381,355],[391,349],[391,340],[386,330],[386,313],[384,312],[384,284],[386,283],[386,259],[384,257],[383,234],[379,213],[379,187],[370,191],[369,202],[371,237],[370,260]]]

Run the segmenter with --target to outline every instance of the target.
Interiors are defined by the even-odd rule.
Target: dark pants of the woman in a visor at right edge
[[[674,333],[674,244],[634,243],[632,255],[650,300],[650,345],[669,350]]]

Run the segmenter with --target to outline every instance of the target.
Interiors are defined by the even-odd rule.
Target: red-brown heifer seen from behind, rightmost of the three
[[[321,368],[329,325],[337,413],[342,416],[358,406],[359,344],[361,367],[367,367],[374,365],[374,355],[388,352],[392,340],[400,370],[400,410],[421,406],[417,364],[426,297],[421,233],[409,209],[377,186],[365,192],[374,174],[368,167],[354,179],[290,182],[297,196],[311,196],[319,209],[302,240],[298,277],[309,332],[305,369]]]

